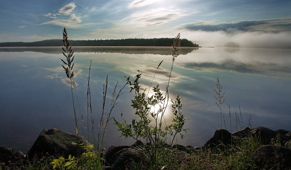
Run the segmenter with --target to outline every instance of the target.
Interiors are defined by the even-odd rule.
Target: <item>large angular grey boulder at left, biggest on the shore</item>
[[[72,142],[78,143],[77,135],[59,130],[59,129],[44,129],[32,145],[31,149],[27,152],[29,159],[36,155],[44,155],[48,152],[50,155],[64,156],[68,158],[69,155],[78,157],[79,147],[73,145]],[[79,144],[89,145],[83,136],[79,136]],[[84,150],[81,150],[81,154]]]

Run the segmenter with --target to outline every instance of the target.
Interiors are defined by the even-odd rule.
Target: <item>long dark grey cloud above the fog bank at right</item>
[[[251,20],[251,21],[234,21],[231,23],[212,23],[209,21],[198,21],[195,23],[187,23],[181,26],[188,30],[202,31],[219,31],[223,30],[228,33],[240,31],[290,31],[291,18]]]

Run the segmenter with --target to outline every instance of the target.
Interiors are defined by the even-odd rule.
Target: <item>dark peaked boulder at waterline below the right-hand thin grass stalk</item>
[[[231,133],[225,129],[219,129],[216,130],[213,137],[202,146],[202,149],[214,149],[216,147],[223,149],[224,146],[229,144],[231,144]]]

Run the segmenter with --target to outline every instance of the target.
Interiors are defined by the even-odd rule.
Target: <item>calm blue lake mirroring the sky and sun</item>
[[[87,78],[92,60],[90,89],[95,132],[102,113],[103,84],[107,75],[107,110],[117,82],[119,90],[125,84],[124,76],[133,78],[136,70],[140,70],[142,88],[148,89],[162,60],[152,87],[159,84],[165,93],[172,65],[170,47],[73,49],[77,82],[73,93],[78,122],[81,122],[80,113],[87,121]],[[43,129],[57,128],[75,134],[71,89],[59,58],[64,59],[61,47],[0,48],[0,146],[26,153]],[[236,131],[251,125],[291,131],[291,49],[184,47],[173,64],[168,88],[170,98],[182,96],[181,111],[189,119],[185,124],[189,130],[183,139],[178,136],[179,144],[202,146],[220,129],[220,108],[214,99],[217,77],[222,92],[226,92],[221,105],[223,128]],[[111,113],[119,121],[121,112],[128,122],[135,117],[130,106],[134,94],[129,90],[129,86],[123,89]],[[167,109],[165,121],[171,123],[171,105]],[[88,131],[91,134],[90,111],[88,117],[85,136]],[[121,134],[113,123],[108,130],[106,148],[134,142],[119,138]],[[83,135],[81,124],[79,134]]]

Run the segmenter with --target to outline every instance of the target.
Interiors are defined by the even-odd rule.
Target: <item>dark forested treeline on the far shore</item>
[[[69,40],[71,46],[156,46],[170,47],[173,38],[129,38],[129,39],[95,39],[95,40]],[[49,39],[35,42],[0,42],[0,47],[57,47],[62,46],[61,39]],[[182,47],[199,47],[187,39],[181,39]]]

